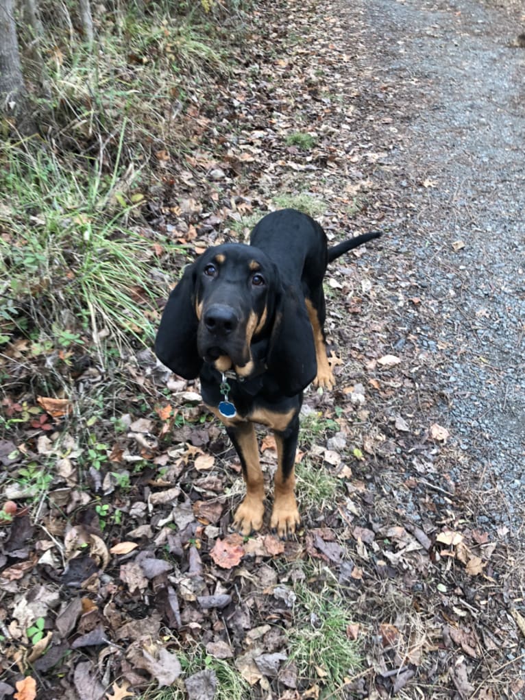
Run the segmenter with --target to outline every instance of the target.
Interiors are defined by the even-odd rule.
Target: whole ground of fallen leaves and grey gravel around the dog
[[[32,432],[0,443],[17,504],[0,533],[0,698],[24,674],[38,699],[523,696],[520,11],[260,10],[244,64],[188,110],[195,148],[148,226],[189,259],[283,206],[334,241],[384,232],[326,279],[337,387],[305,393],[304,526],[286,542],[228,533],[235,452],[198,382],[149,349],[111,377],[112,432],[86,430],[86,447],[60,427],[65,405],[108,377],[77,367],[64,404],[44,397]],[[185,258],[156,253],[161,306]],[[11,415],[22,398],[36,404],[13,393]],[[28,455],[52,470],[31,474]]]

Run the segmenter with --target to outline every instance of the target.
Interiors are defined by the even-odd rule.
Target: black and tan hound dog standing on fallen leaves
[[[326,356],[323,276],[328,262],[374,232],[328,248],[316,221],[294,209],[267,214],[251,244],[209,248],[172,291],[155,342],[162,363],[185,379],[200,376],[202,398],[237,449],[246,497],[235,528],[262,526],[265,489],[253,423],[274,431],[278,466],[270,526],[295,532],[294,462],[302,391],[332,388]]]

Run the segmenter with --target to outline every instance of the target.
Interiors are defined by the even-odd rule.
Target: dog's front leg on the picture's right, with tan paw
[[[277,471],[274,479],[274,508],[270,526],[279,537],[293,535],[300,524],[295,501],[295,451],[299,437],[299,418],[291,421],[286,430],[274,430],[277,444]]]

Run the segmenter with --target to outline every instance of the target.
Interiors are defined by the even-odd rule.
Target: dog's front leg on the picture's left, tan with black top
[[[237,423],[226,428],[239,459],[246,482],[246,496],[235,512],[234,528],[243,535],[260,530],[265,514],[265,482],[259,463],[259,449],[253,423]]]

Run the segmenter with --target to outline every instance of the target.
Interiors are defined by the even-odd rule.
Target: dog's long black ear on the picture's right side
[[[267,367],[286,396],[294,396],[317,373],[314,333],[304,300],[291,288],[282,290],[276,304]]]

